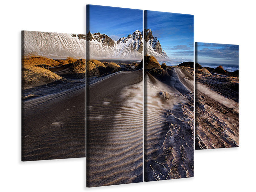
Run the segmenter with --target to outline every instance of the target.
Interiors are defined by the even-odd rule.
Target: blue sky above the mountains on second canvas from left
[[[87,5],[87,31],[106,34],[114,40],[143,30],[143,10]]]

